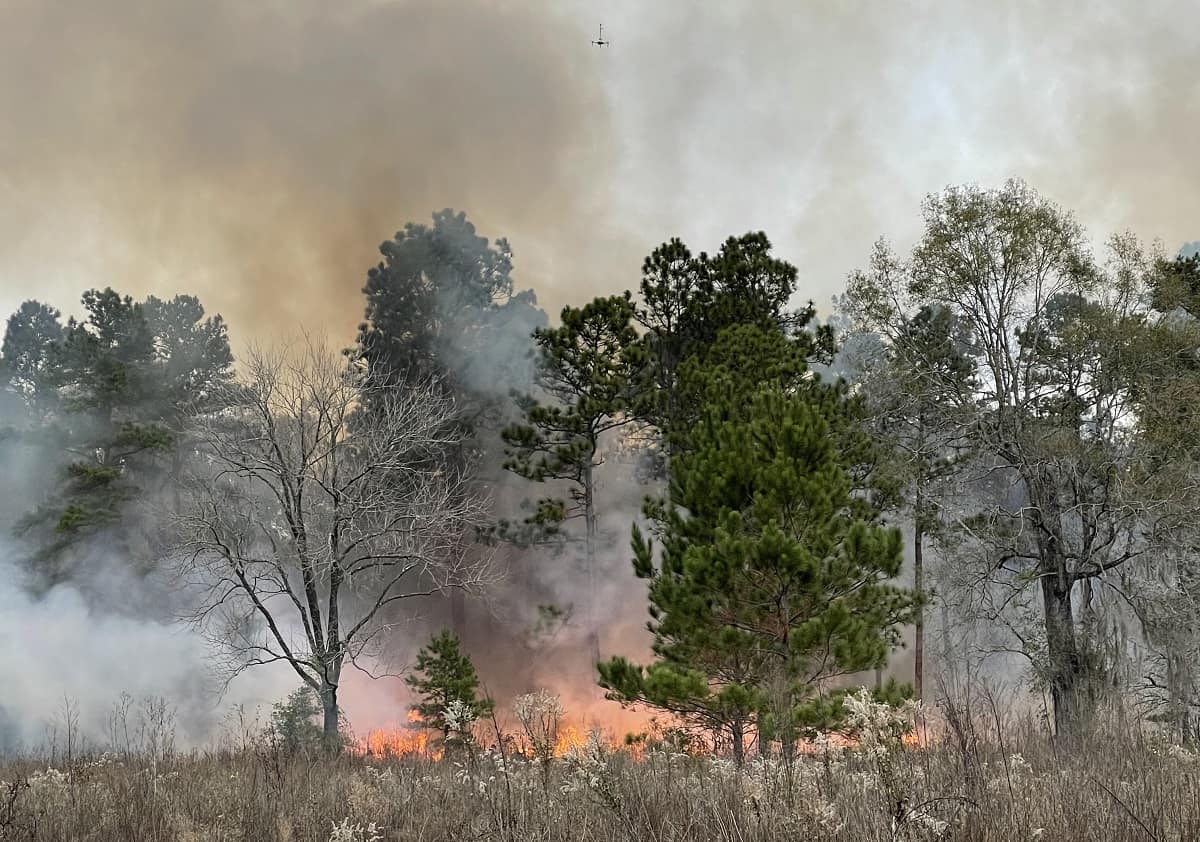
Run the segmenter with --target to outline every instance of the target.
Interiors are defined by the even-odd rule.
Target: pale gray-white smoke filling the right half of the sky
[[[818,306],[952,184],[1020,176],[1098,237],[1195,237],[1187,0],[608,8],[618,198],[689,242],[766,230]]]

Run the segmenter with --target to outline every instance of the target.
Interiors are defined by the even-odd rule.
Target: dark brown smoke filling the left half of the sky
[[[240,339],[348,339],[379,242],[444,206],[512,239],[524,283],[570,253],[596,285],[587,37],[552,2],[0,4],[4,302],[196,291]]]

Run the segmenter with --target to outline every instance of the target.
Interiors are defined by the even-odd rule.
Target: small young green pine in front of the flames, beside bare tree
[[[456,705],[456,715],[466,714],[472,720],[488,715],[494,706],[492,699],[480,696],[475,664],[449,630],[436,634],[416,654],[416,664],[404,682],[421,698],[413,705],[421,722],[440,730],[444,741],[450,741],[454,730],[446,720],[451,704]]]

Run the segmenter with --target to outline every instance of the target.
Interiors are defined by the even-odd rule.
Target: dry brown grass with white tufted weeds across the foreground
[[[0,763],[0,840],[47,842],[1200,840],[1200,758],[1116,728],[1069,747],[1032,728],[973,747],[948,733],[742,772],[665,748],[634,759],[592,745],[546,768],[485,751],[287,757],[258,742],[24,758]]]

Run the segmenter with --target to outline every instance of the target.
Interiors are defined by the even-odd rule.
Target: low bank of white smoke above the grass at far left
[[[0,751],[42,745],[68,704],[88,742],[103,745],[122,693],[164,699],[175,712],[176,744],[199,746],[234,705],[269,708],[296,684],[283,669],[257,668],[222,693],[205,642],[173,623],[167,606],[148,618],[118,603],[122,593],[145,593],[119,565],[95,559],[86,582],[35,597],[16,557],[0,541]]]

